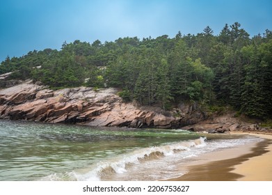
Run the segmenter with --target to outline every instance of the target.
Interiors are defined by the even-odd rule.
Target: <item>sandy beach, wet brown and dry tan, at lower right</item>
[[[251,134],[265,140],[198,157],[188,173],[170,181],[272,181],[272,135]],[[184,168],[184,167],[183,167]]]

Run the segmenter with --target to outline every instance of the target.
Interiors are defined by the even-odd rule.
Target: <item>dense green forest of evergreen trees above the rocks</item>
[[[181,100],[231,105],[256,118],[272,114],[272,31],[250,35],[235,22],[214,35],[119,38],[114,42],[64,42],[6,58],[0,74],[34,79],[51,88],[122,88],[125,101],[170,109]]]

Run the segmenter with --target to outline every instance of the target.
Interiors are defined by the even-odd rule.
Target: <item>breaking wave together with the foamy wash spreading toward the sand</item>
[[[218,139],[215,141],[207,140],[206,137],[199,139],[180,141],[177,143],[166,143],[161,146],[150,148],[139,148],[131,153],[118,155],[110,159],[104,159],[102,162],[91,165],[85,169],[71,171],[64,174],[51,174],[42,180],[157,180],[161,176],[158,173],[153,174],[152,178],[148,174],[155,173],[159,170],[159,174],[168,177],[168,174],[179,172],[175,171],[175,164],[190,160],[202,153],[209,153],[214,150],[223,148],[231,148],[243,145],[248,142],[260,141],[255,137],[247,137],[246,139]],[[147,171],[149,171],[147,173]],[[171,173],[170,173],[171,172]]]

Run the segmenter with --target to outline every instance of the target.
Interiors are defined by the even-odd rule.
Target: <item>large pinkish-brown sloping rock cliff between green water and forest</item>
[[[92,126],[179,128],[206,118],[197,104],[179,104],[171,112],[125,103],[118,89],[65,88],[53,91],[25,81],[0,90],[0,118]]]

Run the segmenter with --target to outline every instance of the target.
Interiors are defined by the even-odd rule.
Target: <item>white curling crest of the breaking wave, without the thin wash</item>
[[[183,153],[183,158],[195,156],[190,154],[189,151],[193,148],[197,150],[197,148],[205,147],[205,140],[205,137],[200,137],[200,139],[191,141],[181,141],[162,146],[141,148],[134,150],[131,153],[99,162],[89,167],[88,169],[90,171],[87,171],[87,173],[80,173],[82,170],[64,174],[54,173],[42,178],[42,180],[101,180],[101,178],[106,178],[109,175],[125,173],[131,166],[145,164],[145,162],[154,162],[154,164],[156,164],[156,161],[163,157],[174,157],[177,154],[180,156],[186,151],[187,153]]]

